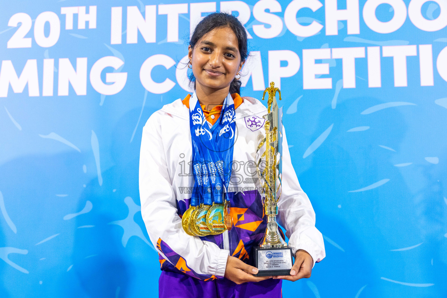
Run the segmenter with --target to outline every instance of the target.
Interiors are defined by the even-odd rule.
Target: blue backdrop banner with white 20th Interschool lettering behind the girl
[[[188,40],[214,11],[249,35],[241,96],[281,88],[325,239],[312,277],[283,296],[446,297],[446,0],[0,7],[0,297],[157,295],[142,129],[191,92]]]

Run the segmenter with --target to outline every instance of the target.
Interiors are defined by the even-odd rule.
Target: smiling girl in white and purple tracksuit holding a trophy
[[[143,128],[141,214],[159,252],[160,297],[281,297],[282,279],[310,277],[313,265],[325,257],[315,213],[299,186],[283,134],[278,222],[286,229],[295,264],[290,276],[253,276],[257,269],[249,265],[251,253],[266,231],[254,160],[265,134],[262,116],[267,111],[257,99],[239,95],[238,78],[247,56],[247,35],[236,17],[226,13],[205,17],[189,45],[194,93],[164,105]],[[201,121],[196,113],[204,126],[196,128]],[[202,135],[207,137],[200,139]],[[225,187],[200,178],[195,167],[190,173],[191,162],[207,158],[228,165],[223,168],[227,179],[221,181]],[[218,235],[193,236],[183,229],[182,216],[194,200],[207,200],[207,185],[227,190],[222,197],[228,200],[232,226]]]

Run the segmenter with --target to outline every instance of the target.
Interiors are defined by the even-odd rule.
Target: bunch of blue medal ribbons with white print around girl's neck
[[[191,206],[200,203],[223,203],[227,192],[233,161],[236,133],[234,102],[228,93],[223,101],[219,121],[213,126],[207,122],[196,93],[190,97],[190,130],[194,173]]]

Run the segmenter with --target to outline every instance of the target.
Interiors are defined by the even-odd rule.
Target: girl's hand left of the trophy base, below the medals
[[[225,277],[230,281],[240,285],[247,281],[263,281],[271,276],[256,277],[253,274],[257,273],[257,268],[245,264],[234,256],[228,256],[227,268],[225,268]]]

